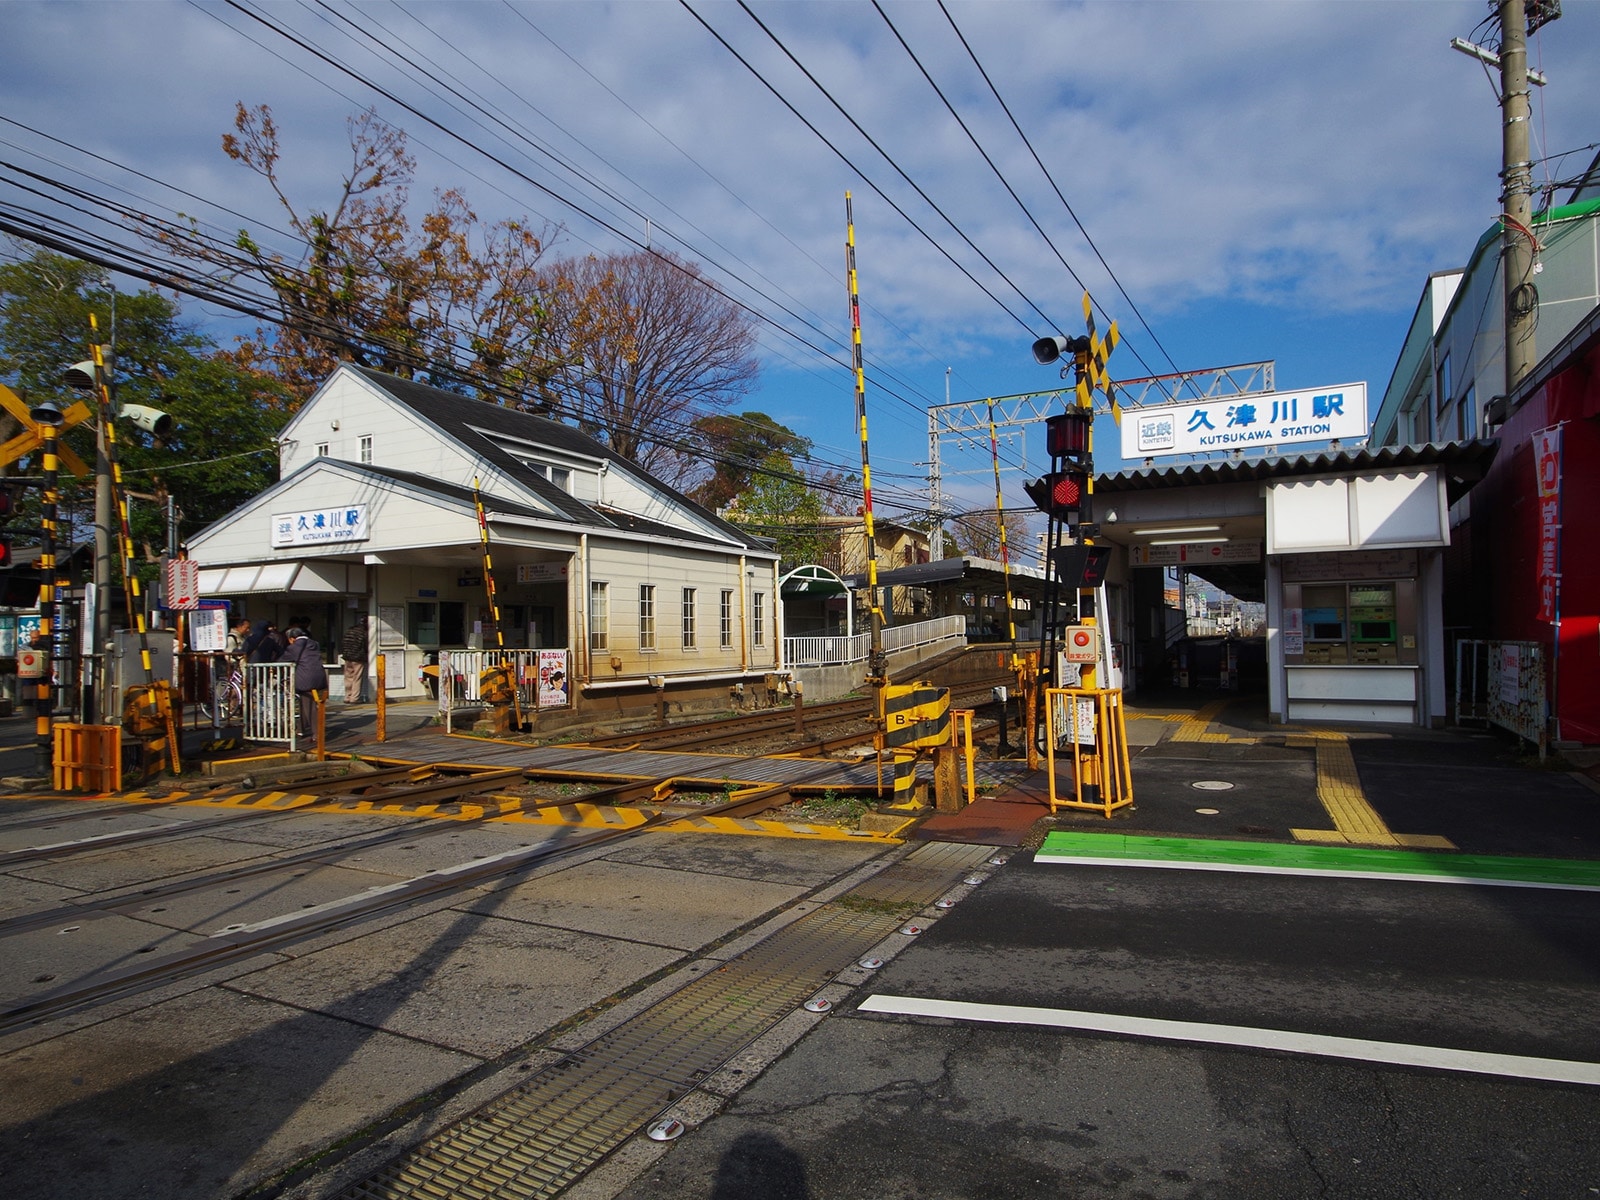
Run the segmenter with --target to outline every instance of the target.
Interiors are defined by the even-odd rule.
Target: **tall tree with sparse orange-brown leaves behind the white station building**
[[[286,190],[272,110],[238,104],[222,152],[261,176],[296,245],[269,248],[250,230],[232,243],[195,222],[154,235],[234,282],[266,285],[275,322],[242,357],[267,363],[301,397],[341,362],[488,397],[520,394],[547,374],[539,264],[550,230],[485,224],[456,190],[416,227],[416,170],[405,133],[373,112],[349,120],[350,160],[328,206]]]

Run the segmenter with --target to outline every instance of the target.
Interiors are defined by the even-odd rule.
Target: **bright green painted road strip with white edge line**
[[[1274,842],[1222,842],[1194,837],[1074,834],[1045,837],[1037,862],[1101,859],[1210,870],[1341,874],[1438,882],[1520,883],[1546,888],[1600,890],[1600,862],[1558,858],[1501,858],[1421,850],[1366,850]]]

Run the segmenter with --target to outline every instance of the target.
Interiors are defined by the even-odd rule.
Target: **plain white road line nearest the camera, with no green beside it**
[[[1048,1026],[1051,1029],[1083,1029],[1096,1034],[1162,1038],[1163,1042],[1202,1042],[1218,1046],[1250,1050],[1282,1050],[1290,1054],[1347,1058],[1358,1062],[1386,1062],[1398,1067],[1432,1067],[1462,1070],[1475,1075],[1507,1075],[1510,1078],[1549,1080],[1554,1083],[1600,1085],[1600,1062],[1576,1062],[1560,1058],[1528,1058],[1523,1054],[1485,1054],[1446,1046],[1413,1046],[1405,1042],[1371,1042],[1360,1037],[1328,1037],[1296,1034],[1286,1029],[1251,1029],[1248,1026],[1213,1026],[1202,1021],[1162,1021],[1157,1018],[1120,1016],[1117,1013],[1082,1013],[1069,1008],[1029,1008],[1024,1005],[979,1005],[966,1000],[925,1000],[906,995],[870,995],[864,1013],[896,1016],[942,1016],[952,1021],[992,1021],[1008,1026]]]

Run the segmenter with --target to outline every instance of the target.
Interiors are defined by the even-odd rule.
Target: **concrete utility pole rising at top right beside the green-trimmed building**
[[[1538,3],[1538,0],[1536,0]],[[1533,283],[1533,160],[1528,150],[1526,0],[1501,0],[1501,246],[1506,283],[1506,395],[1536,362],[1539,290]],[[1453,397],[1442,397],[1451,400]]]

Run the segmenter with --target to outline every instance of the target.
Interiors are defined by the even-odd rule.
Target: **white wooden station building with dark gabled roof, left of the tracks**
[[[330,662],[365,619],[390,698],[427,694],[440,650],[565,651],[574,706],[781,666],[778,554],[571,426],[342,365],[278,456],[278,483],[189,541],[200,592],[307,622]]]

